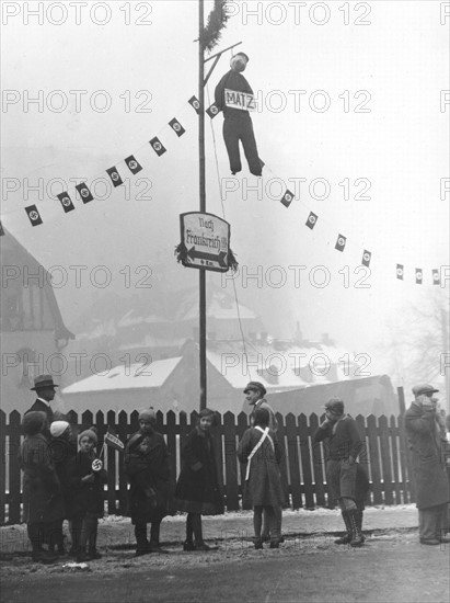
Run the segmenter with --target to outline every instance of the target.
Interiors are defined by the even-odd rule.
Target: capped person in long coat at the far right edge
[[[412,451],[416,481],[419,539],[424,545],[448,543],[445,537],[449,481],[441,452],[446,446],[446,425],[437,412],[439,391],[429,384],[413,387],[414,400],[405,413],[405,430]]]

